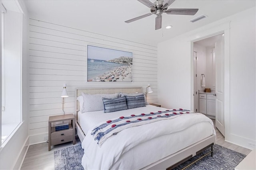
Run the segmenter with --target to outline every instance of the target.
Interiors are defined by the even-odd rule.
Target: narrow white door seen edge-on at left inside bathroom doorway
[[[196,70],[196,59],[197,59],[197,57],[196,57],[196,51],[194,51],[194,53],[193,53],[193,68],[194,68],[194,91],[193,91],[193,96],[194,96],[194,112],[195,113],[197,113],[199,110],[198,110],[198,92],[197,92],[197,86],[196,86],[196,84],[197,84],[197,76],[196,76],[196,72],[197,72],[197,70]]]

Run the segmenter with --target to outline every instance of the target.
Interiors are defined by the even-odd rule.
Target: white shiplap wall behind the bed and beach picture
[[[148,95],[148,102],[157,102],[157,47],[32,18],[29,31],[30,144],[48,136],[49,115],[63,114],[63,83],[70,96],[65,113],[74,113],[76,87],[142,86],[146,92],[150,84],[154,92]],[[86,82],[87,45],[133,52],[133,82]]]

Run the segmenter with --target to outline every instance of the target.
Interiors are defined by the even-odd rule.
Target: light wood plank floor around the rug
[[[240,147],[238,145],[225,142],[224,136],[215,127],[215,120],[212,120],[214,122],[214,128],[216,130],[216,144],[246,155],[248,155],[251,152],[250,149],[246,149],[244,147]],[[76,145],[80,144],[81,142],[79,138],[76,137]],[[48,143],[30,145],[25,160],[22,164],[21,170],[54,170],[54,150],[59,150],[71,146],[73,146],[72,142],[61,145],[55,145],[52,146],[51,151],[48,151]]]

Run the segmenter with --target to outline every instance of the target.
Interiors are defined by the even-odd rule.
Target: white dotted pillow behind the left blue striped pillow
[[[84,99],[83,112],[104,110],[104,104],[102,98],[118,98],[119,94],[86,94],[82,93]]]

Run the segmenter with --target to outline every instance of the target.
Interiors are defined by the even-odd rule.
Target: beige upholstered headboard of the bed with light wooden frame
[[[122,93],[135,93],[142,92],[142,87],[86,87],[86,88],[76,88],[75,90],[75,100],[78,96],[81,96],[81,93],[87,94],[114,94],[118,92]],[[80,110],[79,102],[76,100],[75,102],[75,113]]]

